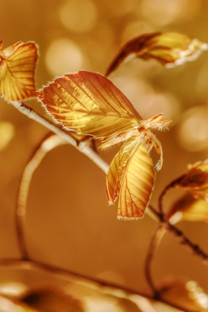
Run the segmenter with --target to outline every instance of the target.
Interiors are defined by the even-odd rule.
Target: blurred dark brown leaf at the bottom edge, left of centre
[[[79,300],[54,289],[30,291],[21,302],[39,312],[84,312]]]

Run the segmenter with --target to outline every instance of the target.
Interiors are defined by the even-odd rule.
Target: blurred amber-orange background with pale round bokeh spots
[[[80,69],[103,73],[119,48],[147,32],[179,31],[208,42],[207,0],[0,0],[0,39],[39,45],[36,86]],[[164,113],[170,131],[157,134],[164,165],[152,204],[165,185],[208,157],[208,54],[173,69],[133,60],[109,77],[143,118]],[[40,104],[27,102],[44,114]],[[0,258],[20,257],[14,209],[23,169],[48,130],[0,99]],[[116,148],[99,152],[110,163]],[[154,159],[157,156],[154,155]],[[171,192],[167,207],[176,198]],[[149,217],[124,222],[108,206],[105,176],[86,156],[63,145],[49,152],[31,181],[26,242],[30,256],[85,276],[145,290],[145,257],[157,224]],[[206,223],[179,224],[208,252]],[[155,282],[167,277],[196,280],[208,291],[208,270],[167,234],[152,267]],[[0,283],[44,283],[45,275],[0,269]]]

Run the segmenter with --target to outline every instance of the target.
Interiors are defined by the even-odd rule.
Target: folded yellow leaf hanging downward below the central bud
[[[136,138],[129,139],[111,162],[107,175],[107,198],[118,196],[118,217],[142,218],[154,185],[153,161]]]

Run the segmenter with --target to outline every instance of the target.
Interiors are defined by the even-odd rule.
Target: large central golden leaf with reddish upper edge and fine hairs
[[[67,130],[103,138],[138,128],[141,117],[104,76],[80,71],[56,79],[38,92],[48,112]]]

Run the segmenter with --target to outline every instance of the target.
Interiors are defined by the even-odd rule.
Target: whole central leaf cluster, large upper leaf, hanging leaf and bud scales
[[[152,129],[163,130],[171,122],[159,114],[148,120],[134,109],[125,95],[106,77],[87,71],[68,74],[37,92],[55,122],[79,135],[101,139],[102,149],[127,141],[113,159],[107,176],[107,197],[118,196],[118,215],[140,218],[154,184],[149,154],[162,147]]]

